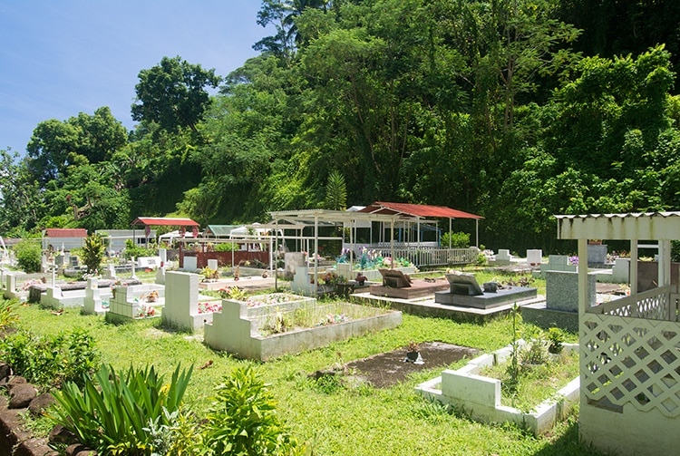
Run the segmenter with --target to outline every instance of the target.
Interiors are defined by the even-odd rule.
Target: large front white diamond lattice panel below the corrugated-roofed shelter
[[[680,415],[680,324],[586,313],[580,332],[588,399]]]

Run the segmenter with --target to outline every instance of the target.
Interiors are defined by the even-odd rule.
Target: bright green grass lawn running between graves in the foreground
[[[185,402],[201,415],[220,383],[238,364],[252,364],[275,393],[278,411],[300,441],[308,441],[315,455],[564,455],[597,454],[578,444],[575,418],[534,438],[511,425],[486,425],[466,416],[450,414],[414,393],[416,384],[442,369],[417,374],[387,389],[367,385],[321,388],[307,374],[333,364],[405,347],[409,341],[442,341],[493,351],[510,343],[511,322],[500,319],[487,325],[459,324],[452,320],[403,315],[403,325],[343,343],[331,344],[276,361],[241,361],[202,344],[202,334],[177,333],[160,327],[160,319],[109,325],[103,316],[80,315],[66,309],[53,315],[39,306],[20,306],[20,325],[37,334],[54,335],[80,327],[92,334],[102,362],[116,369],[130,364],[154,364],[170,375],[181,363],[194,364]],[[574,337],[573,335],[571,336]],[[199,369],[200,366],[212,364]],[[464,361],[449,367],[458,368]]]

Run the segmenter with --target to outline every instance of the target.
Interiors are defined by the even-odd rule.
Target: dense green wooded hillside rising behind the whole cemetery
[[[553,214],[680,208],[677,5],[263,0],[276,33],[235,72],[141,70],[135,131],[101,108],[3,151],[0,226],[382,199],[482,215],[489,247],[573,248]]]

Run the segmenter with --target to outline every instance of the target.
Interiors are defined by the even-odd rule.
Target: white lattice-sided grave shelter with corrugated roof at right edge
[[[657,288],[587,306],[586,268],[579,268],[580,436],[619,455],[680,451],[680,322],[678,265],[670,241],[680,238],[680,212],[557,216],[558,238],[578,239],[588,264],[588,238],[627,239],[629,277],[637,277],[638,239],[657,240]],[[671,279],[672,278],[672,279]]]

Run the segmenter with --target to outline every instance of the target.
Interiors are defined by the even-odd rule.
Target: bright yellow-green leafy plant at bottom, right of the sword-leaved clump
[[[236,368],[217,387],[202,433],[201,454],[303,454],[279,421],[274,396],[251,366]]]

